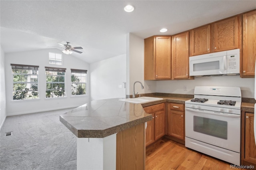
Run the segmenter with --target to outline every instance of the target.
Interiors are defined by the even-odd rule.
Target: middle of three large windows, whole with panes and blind
[[[46,98],[66,97],[66,69],[45,67]]]

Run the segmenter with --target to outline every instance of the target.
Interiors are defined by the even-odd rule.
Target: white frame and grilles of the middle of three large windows
[[[51,73],[51,75],[47,75],[47,71],[50,72],[56,72],[56,74]],[[58,75],[58,73],[64,73],[64,75]],[[67,97],[67,91],[66,91],[66,68],[57,68],[57,67],[45,67],[45,74],[46,74],[46,91],[45,91],[45,98],[46,99],[63,99]],[[64,81],[47,81],[47,76],[60,76],[60,77],[64,77]],[[51,78],[53,80],[53,78]],[[47,91],[56,91],[59,90],[61,91],[62,89],[47,89],[47,83],[52,83],[53,84],[64,84],[64,96],[56,96],[56,97],[47,97]],[[52,95],[52,93],[50,93],[50,95]]]

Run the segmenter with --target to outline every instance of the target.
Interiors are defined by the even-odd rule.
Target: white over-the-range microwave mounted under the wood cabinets
[[[189,57],[190,76],[239,75],[240,49]]]

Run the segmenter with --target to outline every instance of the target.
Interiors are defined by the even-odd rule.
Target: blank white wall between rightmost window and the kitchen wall
[[[92,100],[125,98],[123,82],[126,82],[126,54],[90,64]]]

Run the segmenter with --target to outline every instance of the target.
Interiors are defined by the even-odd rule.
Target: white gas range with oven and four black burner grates
[[[240,87],[195,87],[185,101],[185,146],[240,165]]]

